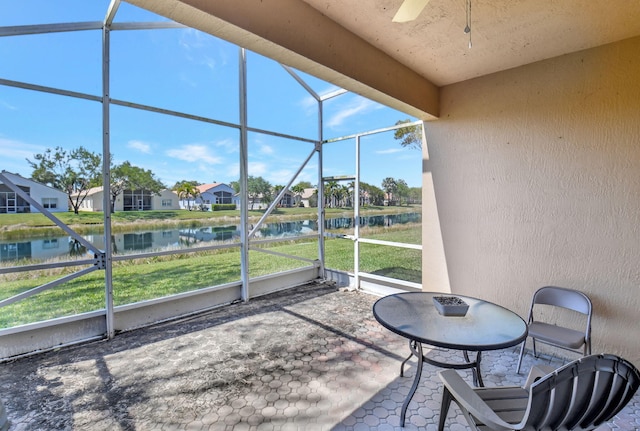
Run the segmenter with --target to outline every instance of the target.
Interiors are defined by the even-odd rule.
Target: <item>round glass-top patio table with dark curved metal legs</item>
[[[444,316],[434,305],[434,296],[462,299],[468,306],[464,316]],[[484,386],[480,373],[482,352],[520,344],[527,337],[527,324],[513,311],[497,304],[469,296],[436,292],[403,292],[385,296],[373,305],[373,315],[382,326],[409,339],[411,354],[400,366],[404,375],[406,362],[418,358],[416,375],[400,413],[404,426],[409,402],[418,388],[424,362],[443,368],[471,369],[476,386]],[[462,351],[464,362],[447,363],[423,354],[422,345]],[[475,352],[471,358],[468,352]]]

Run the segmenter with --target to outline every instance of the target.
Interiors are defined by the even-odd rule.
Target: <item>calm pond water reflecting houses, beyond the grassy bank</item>
[[[360,217],[360,226],[392,226],[418,223],[420,221],[420,213],[387,214]],[[354,219],[350,217],[325,220],[325,229],[329,232],[337,229],[351,229],[353,226]],[[295,237],[317,232],[317,220],[282,221],[263,224],[256,232],[255,238]],[[104,236],[102,234],[83,235],[83,237],[97,248],[104,248]],[[145,229],[140,232],[114,234],[112,238],[114,254],[132,254],[240,242],[240,226]],[[0,262],[20,259],[44,261],[64,256],[86,257],[86,253],[87,250],[84,246],[72,240],[69,236],[0,241]]]

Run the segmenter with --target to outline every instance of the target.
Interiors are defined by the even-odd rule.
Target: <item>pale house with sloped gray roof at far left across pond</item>
[[[2,171],[2,175],[50,212],[69,211],[69,201],[65,192],[7,171]],[[0,180],[0,214],[30,212],[39,211]]]

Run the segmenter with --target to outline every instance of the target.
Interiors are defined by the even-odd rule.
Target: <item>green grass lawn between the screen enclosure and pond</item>
[[[189,214],[188,211],[185,213]],[[65,215],[71,219],[74,217],[73,214]],[[95,214],[82,214],[81,216],[85,222],[95,220],[91,217],[95,217]],[[84,218],[84,216],[88,217]],[[33,220],[35,219],[36,217],[33,218]],[[362,230],[362,236],[394,242],[419,243],[421,224],[396,225],[391,228],[366,228]],[[327,268],[353,271],[352,241],[328,238],[325,245]],[[312,260],[317,259],[318,255],[316,240],[269,243],[263,247]],[[360,271],[421,282],[422,265],[419,250],[373,244],[361,244],[360,247]],[[249,253],[250,277],[304,266],[308,266],[308,263],[297,259],[274,256],[256,250]],[[0,275],[2,285],[0,300],[56,280],[61,275],[75,272],[77,269],[79,268],[58,267],[41,271],[2,274]],[[240,280],[240,251],[237,248],[118,261],[113,265],[114,304],[116,306],[124,305],[238,280]],[[104,271],[94,271],[28,299],[3,307],[2,313],[0,313],[0,327],[6,328],[103,309],[105,304],[104,291]]]

